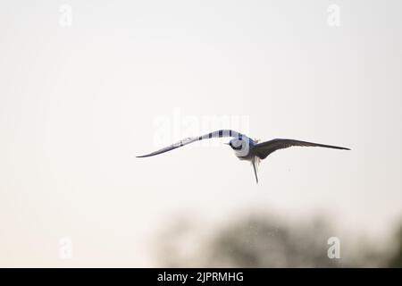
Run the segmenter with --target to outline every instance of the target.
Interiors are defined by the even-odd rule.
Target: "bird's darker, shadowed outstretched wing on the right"
[[[260,159],[265,159],[267,156],[269,156],[272,152],[275,152],[276,150],[292,146],[325,147],[332,149],[350,150],[349,148],[346,147],[324,145],[324,144],[299,141],[293,139],[272,139],[270,141],[262,142],[255,145],[254,151],[255,156],[258,156]]]

